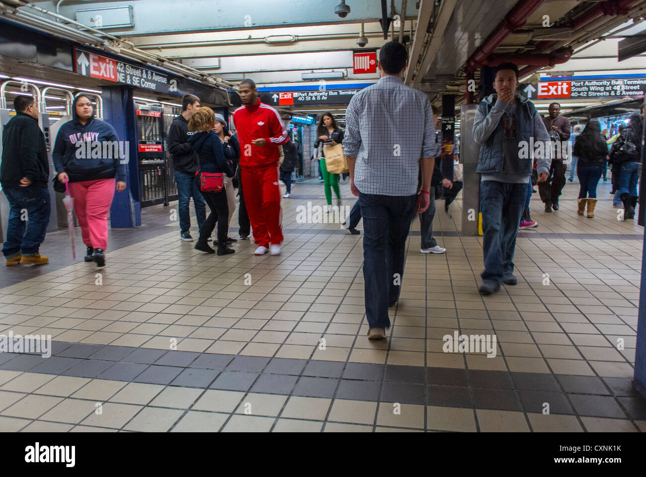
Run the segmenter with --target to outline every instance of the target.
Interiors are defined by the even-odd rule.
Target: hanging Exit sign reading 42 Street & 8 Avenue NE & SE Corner
[[[135,88],[164,93],[177,94],[178,92],[177,83],[175,82],[174,85],[172,83],[176,80],[169,80],[166,74],[108,58],[79,47],[74,47],[74,71],[83,76],[107,79],[107,81],[123,83]]]

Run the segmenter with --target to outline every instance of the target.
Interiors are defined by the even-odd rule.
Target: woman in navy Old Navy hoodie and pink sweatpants
[[[125,189],[125,162],[114,127],[94,118],[94,107],[82,93],[74,98],[74,119],[61,126],[54,143],[57,179],[69,184],[74,210],[87,247],[86,262],[105,265],[108,214],[114,191]]]

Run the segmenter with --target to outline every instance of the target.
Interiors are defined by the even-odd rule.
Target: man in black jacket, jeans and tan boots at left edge
[[[32,96],[16,96],[14,109],[16,116],[2,134],[0,184],[10,207],[2,251],[8,266],[43,265],[49,260],[39,249],[50,213],[45,135],[38,126],[38,106]]]

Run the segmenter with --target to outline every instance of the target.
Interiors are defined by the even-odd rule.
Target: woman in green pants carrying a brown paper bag
[[[334,192],[337,195],[337,206],[341,206],[339,173],[344,172],[343,167],[345,164],[343,149],[341,146],[341,143],[343,142],[343,131],[341,131],[337,126],[337,121],[331,112],[323,114],[321,121],[318,124],[317,135],[318,140],[314,143],[314,148],[320,148],[321,151],[319,163],[325,188],[325,198],[328,202],[326,212],[329,212],[332,206],[331,189],[334,189]],[[328,171],[327,167],[326,154],[328,154],[330,165],[333,167],[330,171]],[[334,173],[332,171],[334,171]]]

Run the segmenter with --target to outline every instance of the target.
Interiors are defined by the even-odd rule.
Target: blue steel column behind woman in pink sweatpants
[[[130,229],[141,225],[139,170],[137,163],[137,129],[132,88],[104,86],[103,119],[116,129],[120,141],[127,141],[126,188],[114,194],[110,207],[110,226]]]

